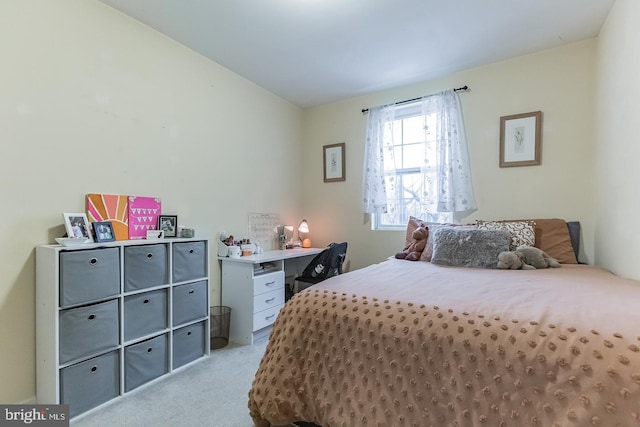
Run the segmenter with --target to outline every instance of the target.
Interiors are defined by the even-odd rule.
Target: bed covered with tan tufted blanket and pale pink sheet
[[[637,281],[595,266],[391,257],[283,307],[249,410],[259,427],[639,426],[638,307]]]

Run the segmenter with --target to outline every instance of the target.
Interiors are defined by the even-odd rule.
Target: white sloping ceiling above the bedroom
[[[595,37],[615,0],[100,0],[306,108]]]

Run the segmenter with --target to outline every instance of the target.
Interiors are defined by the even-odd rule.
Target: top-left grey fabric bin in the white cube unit
[[[60,306],[82,304],[120,293],[118,248],[60,252]]]

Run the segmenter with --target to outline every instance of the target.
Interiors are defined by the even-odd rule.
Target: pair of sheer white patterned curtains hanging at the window
[[[448,90],[426,96],[421,103],[423,115],[435,114],[437,117],[437,174],[435,183],[430,182],[424,174],[422,181],[425,186],[419,194],[419,202],[426,212],[470,213],[477,208],[458,94]],[[385,129],[393,121],[395,110],[395,104],[369,109],[363,168],[362,209],[365,213],[386,213],[389,206],[393,205],[387,199],[387,194],[396,193],[389,191],[395,182],[385,174],[385,155],[387,173],[389,162],[393,161],[393,136],[392,132],[385,132]],[[425,164],[423,168],[426,170],[428,166]]]

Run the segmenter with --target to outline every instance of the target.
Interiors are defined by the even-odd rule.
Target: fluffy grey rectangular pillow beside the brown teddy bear
[[[496,268],[498,254],[511,243],[511,233],[499,229],[441,227],[432,236],[431,262],[455,267]]]

